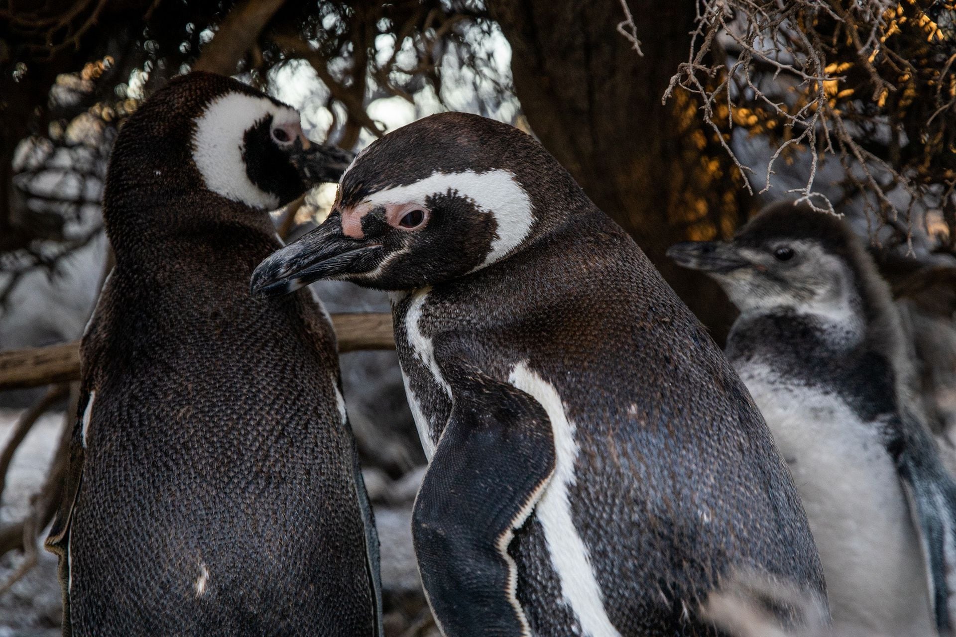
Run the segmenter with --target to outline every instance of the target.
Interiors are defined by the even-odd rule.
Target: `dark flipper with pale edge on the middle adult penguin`
[[[554,473],[554,436],[527,393],[470,370],[412,513],[435,620],[447,637],[530,635],[508,545]]]

